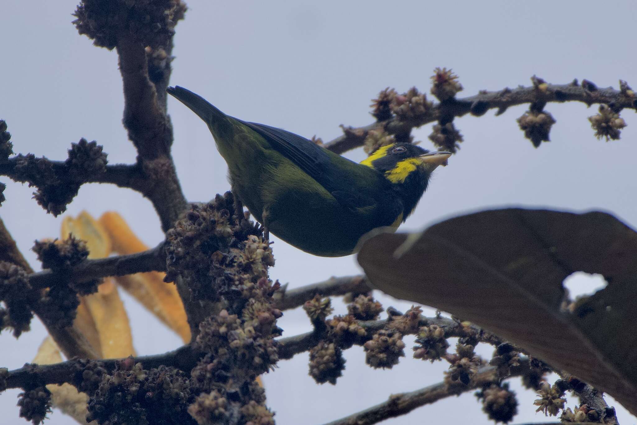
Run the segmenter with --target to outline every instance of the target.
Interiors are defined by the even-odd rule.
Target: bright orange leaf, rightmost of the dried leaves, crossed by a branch
[[[99,222],[110,235],[113,250],[118,254],[134,254],[148,249],[118,213],[106,212]],[[137,273],[116,277],[115,280],[141,305],[178,333],[183,342],[190,342],[190,328],[182,299],[174,284],[164,282],[164,276],[165,273],[159,272]]]

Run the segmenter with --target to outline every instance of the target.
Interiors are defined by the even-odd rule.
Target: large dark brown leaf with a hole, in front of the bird
[[[637,414],[637,233],[612,215],[480,212],[420,235],[377,234],[358,261],[374,287],[475,322]],[[564,313],[574,271],[608,285]]]

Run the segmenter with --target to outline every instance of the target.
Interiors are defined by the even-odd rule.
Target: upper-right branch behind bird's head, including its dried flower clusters
[[[520,129],[525,132],[537,147],[541,141],[548,140],[550,126],[555,123],[549,113],[544,113],[545,104],[552,102],[578,101],[587,105],[601,104],[600,113],[590,117],[590,124],[596,129],[598,138],[619,138],[619,130],[626,123],[619,118],[623,108],[637,109],[637,97],[626,82],[620,81],[620,90],[612,87],[599,88],[588,80],[577,80],[568,84],[550,84],[533,76],[533,85],[502,89],[497,91],[480,90],[469,97],[456,98],[455,93],[462,90],[455,75],[447,69],[436,69],[432,77],[431,92],[440,99],[439,103],[427,101],[424,94],[415,88],[398,95],[393,89],[383,90],[374,100],[373,115],[377,121],[364,127],[343,127],[343,135],[324,144],[329,150],[342,154],[347,150],[364,145],[368,136],[389,134],[396,139],[408,140],[415,127],[438,121],[434,133],[429,138],[438,147],[455,152],[457,141],[462,136],[455,130],[452,121],[468,113],[481,116],[489,110],[497,110],[501,115],[510,106],[529,104],[529,112],[518,120]],[[376,132],[376,134],[374,134]],[[371,147],[373,148],[373,147]]]

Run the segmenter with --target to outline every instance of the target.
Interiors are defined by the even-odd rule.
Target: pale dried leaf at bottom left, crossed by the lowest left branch
[[[62,356],[60,350],[55,345],[51,336],[47,336],[38,349],[38,354],[33,359],[33,363],[37,364],[54,364],[60,363]],[[47,385],[48,391],[51,392],[51,404],[53,407],[59,408],[62,413],[73,417],[78,423],[86,424],[86,405],[89,396],[79,393],[71,384]],[[95,422],[90,422],[94,424]]]

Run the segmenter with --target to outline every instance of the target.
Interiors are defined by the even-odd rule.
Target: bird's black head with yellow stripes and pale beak
[[[361,162],[383,173],[403,199],[403,221],[427,189],[429,176],[439,165],[447,165],[450,152],[429,152],[412,143],[392,143],[376,149]]]

